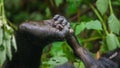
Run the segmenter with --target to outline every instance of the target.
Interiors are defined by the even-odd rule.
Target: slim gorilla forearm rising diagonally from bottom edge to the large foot
[[[73,31],[72,29],[70,30]],[[74,35],[74,32],[69,33],[69,35],[66,37],[66,40],[73,49],[75,55],[83,61],[86,68],[99,68],[96,66],[96,60],[90,55],[90,53],[85,48],[80,46],[77,38]]]

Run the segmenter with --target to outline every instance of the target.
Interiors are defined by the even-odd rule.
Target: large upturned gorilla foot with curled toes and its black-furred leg
[[[60,15],[40,22],[22,23],[16,33],[17,53],[3,68],[39,68],[43,48],[49,43],[63,41],[69,28],[69,22]]]

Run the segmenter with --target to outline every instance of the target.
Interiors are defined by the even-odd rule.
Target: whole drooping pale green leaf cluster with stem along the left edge
[[[5,16],[4,0],[0,0],[0,66],[4,64],[7,57],[9,60],[12,59],[11,46],[17,51],[14,30]]]

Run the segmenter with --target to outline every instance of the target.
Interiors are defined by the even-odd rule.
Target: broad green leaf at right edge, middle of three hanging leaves
[[[112,32],[116,34],[120,33],[120,22],[114,14],[111,14],[108,18],[108,25]]]

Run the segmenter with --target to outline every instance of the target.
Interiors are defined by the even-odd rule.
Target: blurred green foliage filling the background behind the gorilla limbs
[[[60,14],[69,20],[79,42],[95,57],[97,52],[101,55],[120,47],[120,0],[5,0],[4,3],[7,21],[12,22],[13,28],[26,20],[45,20]],[[42,68],[67,61],[76,68],[84,68],[66,42],[47,46],[41,59]]]

